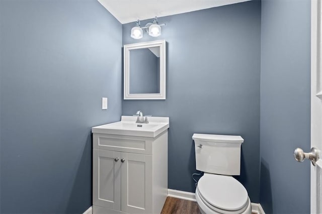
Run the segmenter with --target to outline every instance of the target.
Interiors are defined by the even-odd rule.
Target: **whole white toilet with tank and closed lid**
[[[201,213],[252,213],[247,190],[231,175],[240,174],[240,136],[194,134],[196,168],[203,171],[196,188]]]

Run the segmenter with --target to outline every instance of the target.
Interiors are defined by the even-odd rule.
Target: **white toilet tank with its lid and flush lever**
[[[232,135],[193,134],[196,169],[221,175],[240,174],[240,147],[244,139]]]

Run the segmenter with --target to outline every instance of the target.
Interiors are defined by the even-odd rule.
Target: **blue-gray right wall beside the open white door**
[[[261,197],[266,213],[310,212],[310,1],[262,1]]]

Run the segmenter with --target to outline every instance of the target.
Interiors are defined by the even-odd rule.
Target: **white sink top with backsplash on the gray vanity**
[[[169,128],[169,118],[148,117],[148,124],[139,124],[134,116],[122,116],[121,121],[92,128],[93,133],[154,138]]]

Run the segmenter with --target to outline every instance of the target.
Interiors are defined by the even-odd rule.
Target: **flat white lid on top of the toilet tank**
[[[236,135],[209,135],[209,134],[193,134],[193,140],[208,141],[217,143],[243,143],[244,139]]]

